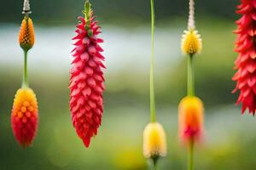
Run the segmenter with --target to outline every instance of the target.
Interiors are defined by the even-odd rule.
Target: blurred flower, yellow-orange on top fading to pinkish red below
[[[178,106],[179,135],[184,142],[201,139],[204,107],[201,99],[187,96]]]

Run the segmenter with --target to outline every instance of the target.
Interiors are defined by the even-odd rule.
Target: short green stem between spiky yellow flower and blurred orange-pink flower
[[[194,57],[189,55],[188,59],[188,96],[195,95]]]

